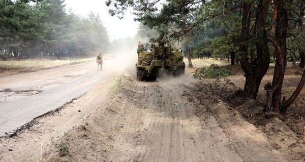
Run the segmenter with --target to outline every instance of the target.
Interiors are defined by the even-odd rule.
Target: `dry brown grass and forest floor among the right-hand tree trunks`
[[[230,65],[230,62],[227,62],[227,60],[214,60],[214,59],[195,59],[192,60],[193,64],[195,64],[194,68],[187,67],[186,69],[189,74],[192,73],[192,71],[195,71],[199,67],[208,67],[209,64],[215,63],[220,66],[221,69],[230,69],[233,75],[228,76],[227,79],[230,80],[230,82],[234,83],[234,86],[236,89],[243,89],[243,86],[245,84],[245,76],[243,70],[241,69],[240,65]],[[269,69],[266,73],[266,75],[262,79],[262,83],[259,88],[259,92],[257,95],[257,100],[249,100],[249,99],[243,99],[243,98],[233,98],[228,99],[230,102],[230,105],[232,107],[236,107],[241,114],[245,118],[247,118],[250,123],[255,124],[257,126],[265,125],[269,118],[266,118],[263,113],[263,105],[266,102],[266,92],[264,90],[264,85],[268,82],[272,82],[272,77],[274,73],[274,64],[270,64]],[[286,98],[290,97],[291,94],[294,92],[296,87],[299,84],[301,75],[303,73],[303,69],[294,67],[291,63],[288,63],[288,66],[285,70],[285,78],[284,83],[282,87],[282,97],[285,96]],[[215,79],[204,79],[205,84],[214,84],[216,83]],[[222,80],[222,82],[219,83],[219,87],[227,87],[225,80]],[[222,92],[221,95],[224,95],[226,93]],[[300,92],[297,99],[294,101],[294,103],[287,109],[286,116],[280,117],[284,118],[285,123],[289,126],[291,130],[293,130],[297,136],[305,140],[305,88]],[[252,102],[257,102],[256,104],[253,104]],[[234,103],[236,102],[236,103]],[[237,103],[238,102],[238,103]],[[262,106],[261,106],[262,105]],[[252,108],[249,108],[249,107]],[[276,114],[275,114],[276,115]]]

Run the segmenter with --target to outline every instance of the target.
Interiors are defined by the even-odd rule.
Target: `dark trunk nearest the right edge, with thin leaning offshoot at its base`
[[[274,1],[274,3],[275,8],[277,8],[277,10],[275,10],[277,11],[277,14],[274,14],[275,16],[273,16],[273,22],[277,20],[277,28],[275,28],[275,23],[273,23],[270,30],[270,40],[276,49],[277,62],[275,70],[277,71],[275,71],[275,75],[273,75],[272,86],[269,91],[270,96],[267,96],[268,104],[266,106],[266,110],[270,111],[273,108],[285,115],[287,108],[295,101],[305,84],[305,70],[303,71],[298,87],[290,96],[290,98],[286,101],[286,97],[283,97],[283,101],[281,101],[281,90],[286,67],[286,35],[288,26],[288,14],[286,13],[286,9],[284,7],[285,0]],[[300,27],[300,29],[302,31],[302,27]],[[303,50],[301,49],[300,51]]]

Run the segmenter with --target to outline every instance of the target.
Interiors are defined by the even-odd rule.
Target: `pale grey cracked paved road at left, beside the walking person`
[[[0,137],[82,96],[109,76],[106,71],[89,62],[0,77]]]

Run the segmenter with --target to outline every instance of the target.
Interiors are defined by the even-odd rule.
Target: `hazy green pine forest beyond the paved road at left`
[[[66,11],[64,0],[0,0],[0,57],[90,57],[109,36],[98,14]]]

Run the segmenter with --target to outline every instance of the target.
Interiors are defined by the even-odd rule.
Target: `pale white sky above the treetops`
[[[66,0],[66,9],[72,9],[74,13],[86,17],[90,11],[99,14],[104,26],[108,31],[110,40],[134,37],[138,30],[138,22],[135,22],[131,13],[126,13],[123,19],[112,17],[108,14],[109,8],[105,0]]]

